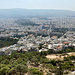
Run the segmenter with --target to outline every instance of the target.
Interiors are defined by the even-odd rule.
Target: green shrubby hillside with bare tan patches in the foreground
[[[75,71],[75,56],[64,57],[64,60],[49,60],[46,52],[13,52],[0,56],[0,75],[64,75]],[[66,53],[63,54],[63,56]]]

